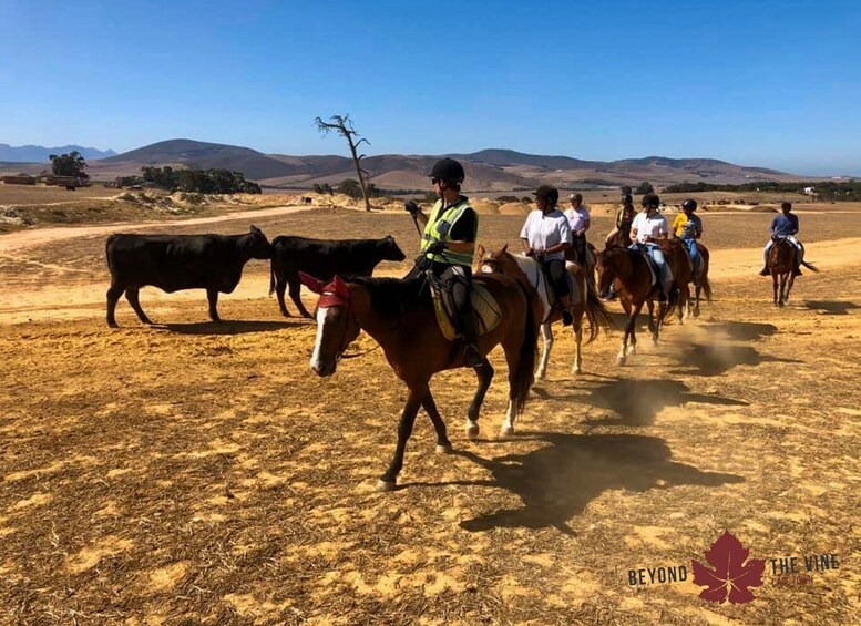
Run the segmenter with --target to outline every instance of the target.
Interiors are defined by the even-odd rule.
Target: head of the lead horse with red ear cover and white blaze
[[[339,276],[328,284],[304,271],[299,278],[308,289],[320,295],[314,311],[317,339],[310,366],[318,376],[331,376],[347,347],[359,336],[359,324],[350,309],[350,287]]]

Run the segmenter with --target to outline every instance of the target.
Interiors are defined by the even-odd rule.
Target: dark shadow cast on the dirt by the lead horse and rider
[[[663,439],[634,434],[531,433],[547,445],[525,454],[484,459],[457,452],[485,468],[493,480],[471,484],[499,486],[516,494],[523,506],[502,509],[461,522],[467,531],[553,526],[573,534],[567,521],[605,491],[643,493],[679,485],[718,488],[744,482],[735,474],[704,472],[672,460]]]

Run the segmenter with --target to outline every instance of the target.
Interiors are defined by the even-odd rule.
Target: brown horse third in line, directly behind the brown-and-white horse
[[[685,263],[687,264],[687,261]],[[607,297],[609,288],[615,281],[619,289],[622,307],[628,316],[625,322],[625,333],[622,338],[622,348],[616,358],[619,365],[624,365],[627,360],[628,341],[631,341],[631,352],[635,353],[637,350],[636,322],[643,306],[648,305],[648,328],[652,331],[653,341],[657,343],[664,319],[677,302],[678,289],[670,289],[669,300],[658,305],[658,315],[655,319],[653,311],[658,287],[652,285],[648,261],[640,252],[628,248],[603,250],[598,254],[595,270],[598,275],[598,294],[602,297]]]

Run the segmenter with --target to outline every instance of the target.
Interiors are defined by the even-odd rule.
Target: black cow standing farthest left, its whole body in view
[[[209,318],[221,321],[218,293],[233,293],[249,259],[271,258],[271,245],[252,226],[247,235],[111,235],[105,253],[111,270],[107,326],[116,328],[114,310],[123,291],[141,321],[152,324],[137,299],[146,285],[168,294],[206,289]]]

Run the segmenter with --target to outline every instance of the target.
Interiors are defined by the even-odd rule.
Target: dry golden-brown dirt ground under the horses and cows
[[[611,305],[617,329],[577,378],[557,327],[508,440],[501,352],[478,441],[463,434],[474,376],[439,374],[454,453],[434,454],[420,414],[400,489],[377,493],[404,387],[380,351],[317,378],[316,328],[280,317],[265,263],[222,297],[221,325],[203,293],[155,289],[141,301],[158,326],[124,300],[121,328],[104,322],[109,232],[254,223],[417,250],[406,215],[297,211],[0,236],[0,623],[858,623],[861,212],[801,213],[821,273],[780,310],[755,276],[771,216],[704,214],[715,301],[699,319],[658,346],[642,329],[617,367]],[[514,245],[521,224],[482,217],[481,240]],[[767,561],[749,604],[710,604],[691,582],[725,530]],[[804,584],[772,572],[795,556],[808,574],[813,554],[839,565]],[[629,584],[681,565],[685,582]]]

